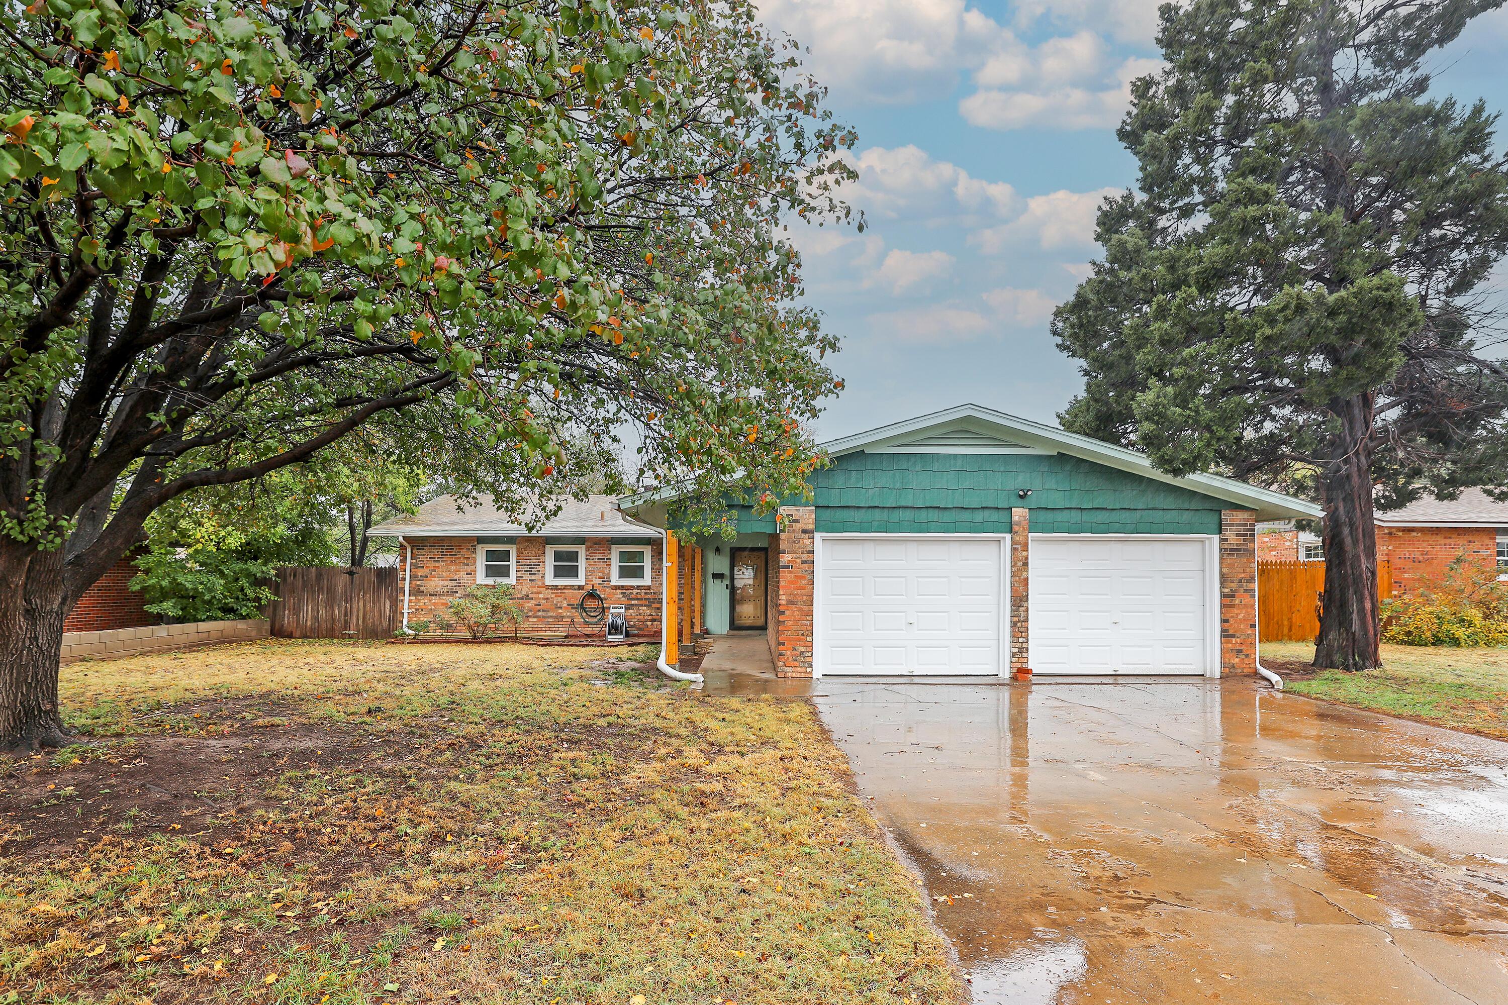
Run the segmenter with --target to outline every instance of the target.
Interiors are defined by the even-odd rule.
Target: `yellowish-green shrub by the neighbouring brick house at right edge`
[[[1497,570],[1463,554],[1445,576],[1383,601],[1383,642],[1401,645],[1508,645],[1508,583]]]

